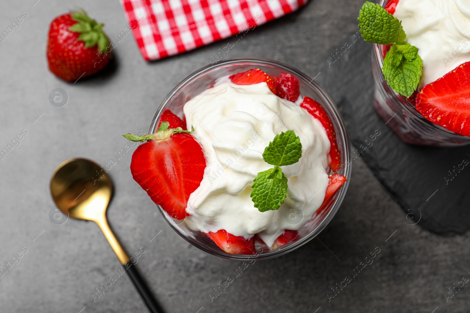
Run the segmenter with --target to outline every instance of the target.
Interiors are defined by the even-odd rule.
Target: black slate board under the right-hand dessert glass
[[[470,145],[435,148],[402,142],[373,108],[372,44],[362,38],[354,41],[352,36],[331,48],[315,79],[343,115],[352,151],[366,147],[359,149],[360,157],[368,163],[371,175],[409,214],[407,223],[419,221],[418,225],[438,234],[466,232],[470,229],[470,164],[463,166],[462,161],[470,161]],[[346,43],[350,44],[347,49]],[[345,53],[337,53],[345,49]],[[336,61],[331,53],[337,53]],[[371,141],[370,136],[378,132],[380,135]],[[456,169],[459,165],[463,166],[460,171]]]

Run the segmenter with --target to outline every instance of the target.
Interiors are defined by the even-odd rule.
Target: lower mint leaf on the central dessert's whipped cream
[[[251,200],[259,212],[277,210],[287,196],[287,177],[281,168],[274,167],[259,172],[251,186]]]

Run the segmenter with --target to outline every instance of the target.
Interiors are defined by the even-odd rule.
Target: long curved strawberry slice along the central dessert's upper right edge
[[[336,172],[341,167],[341,157],[339,155],[338,144],[336,142],[335,128],[333,127],[331,119],[321,104],[309,97],[304,97],[300,107],[303,107],[314,118],[319,120],[325,129],[326,134],[328,135],[329,143],[331,145],[329,148],[329,156],[331,158],[329,167],[333,170],[333,172]]]

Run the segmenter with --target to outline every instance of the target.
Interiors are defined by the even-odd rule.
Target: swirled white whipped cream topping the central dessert
[[[258,234],[272,246],[284,229],[299,229],[313,217],[328,186],[330,144],[321,123],[305,109],[277,97],[266,83],[236,85],[222,79],[189,100],[184,114],[207,160],[186,208],[190,229],[225,229],[246,239]],[[259,212],[250,197],[253,179],[273,167],[262,154],[274,136],[287,130],[300,137],[302,158],[281,167],[288,178],[281,207]]]

